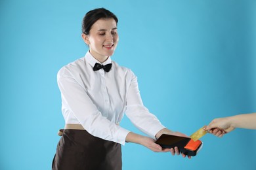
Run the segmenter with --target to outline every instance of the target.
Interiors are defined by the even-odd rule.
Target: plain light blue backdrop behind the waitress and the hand
[[[256,1],[1,0],[0,169],[51,169],[64,126],[58,69],[84,56],[84,14],[119,18],[112,57],[138,76],[144,105],[187,135],[213,118],[256,112]],[[121,126],[137,131],[125,117]],[[123,146],[123,169],[256,169],[256,133],[205,135],[191,160]]]

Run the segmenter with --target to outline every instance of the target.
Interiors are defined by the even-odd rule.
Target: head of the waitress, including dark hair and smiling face
[[[112,56],[116,49],[119,41],[117,22],[116,15],[104,9],[91,10],[83,18],[83,41],[90,47],[93,57],[101,63]]]

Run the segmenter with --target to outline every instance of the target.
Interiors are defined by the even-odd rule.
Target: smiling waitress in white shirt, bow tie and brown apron
[[[110,58],[119,40],[117,22],[109,10],[87,12],[81,37],[89,51],[58,72],[66,126],[53,169],[121,169],[120,144],[125,142],[141,144],[154,152],[180,154],[177,147],[163,149],[154,141],[163,133],[185,135],[161,125],[142,104],[137,77]],[[120,127],[124,112],[150,137]]]

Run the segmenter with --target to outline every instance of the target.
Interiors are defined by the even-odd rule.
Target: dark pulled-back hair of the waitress
[[[118,22],[116,15],[107,9],[100,8],[90,10],[83,17],[82,33],[84,33],[85,35],[89,35],[89,31],[91,30],[92,25],[95,24],[95,22],[101,18],[113,18],[116,21],[116,24]]]

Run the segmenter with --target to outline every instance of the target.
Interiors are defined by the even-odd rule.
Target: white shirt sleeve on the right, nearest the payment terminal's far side
[[[131,85],[127,93],[126,115],[143,133],[155,138],[156,133],[165,128],[158,118],[144,107],[140,97],[137,77],[132,73]]]

